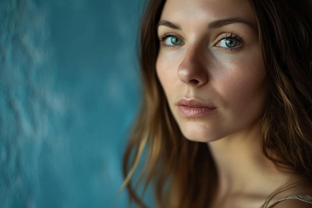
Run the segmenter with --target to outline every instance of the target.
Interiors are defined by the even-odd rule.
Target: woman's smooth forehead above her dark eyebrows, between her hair
[[[249,0],[166,0],[160,19],[196,23],[239,17],[256,22]]]

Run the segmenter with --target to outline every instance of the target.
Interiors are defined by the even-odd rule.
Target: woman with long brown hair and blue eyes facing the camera
[[[145,146],[159,208],[312,207],[308,1],[152,0],[144,100],[124,160]],[[132,154],[134,154],[134,157]]]

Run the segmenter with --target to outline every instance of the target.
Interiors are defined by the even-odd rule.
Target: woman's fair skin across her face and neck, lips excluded
[[[187,139],[208,142],[216,163],[219,187],[212,208],[259,208],[292,174],[277,170],[259,144],[268,90],[250,3],[167,0],[157,33],[156,73],[173,117]],[[179,111],[180,99],[213,110],[190,118]]]

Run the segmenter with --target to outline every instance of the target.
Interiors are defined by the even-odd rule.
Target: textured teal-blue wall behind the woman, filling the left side
[[[0,0],[1,208],[113,207],[140,103],[143,4]]]

